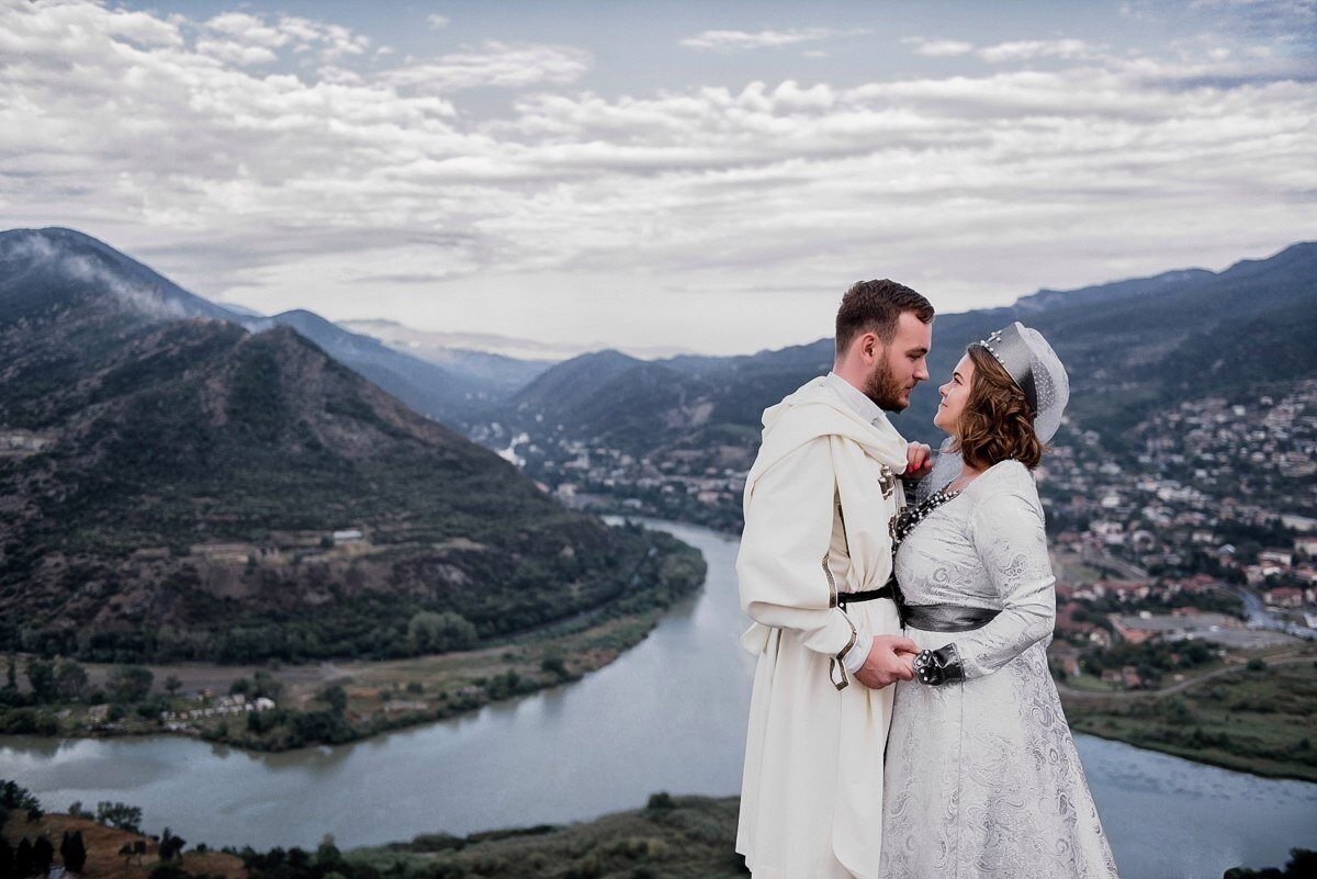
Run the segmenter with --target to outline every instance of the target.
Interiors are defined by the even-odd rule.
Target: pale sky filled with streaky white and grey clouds
[[[637,355],[1317,239],[1317,0],[0,0],[0,228]]]

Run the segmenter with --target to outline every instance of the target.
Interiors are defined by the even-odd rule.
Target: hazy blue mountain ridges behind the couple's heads
[[[840,293],[839,293],[840,299]],[[1297,243],[1222,272],[1171,271],[1075,291],[1039,291],[1006,308],[939,314],[930,382],[894,417],[932,445],[935,388],[968,342],[1022,321],[1065,362],[1072,421],[1112,442],[1154,407],[1183,396],[1229,396],[1272,379],[1317,375],[1317,243]],[[661,458],[718,450],[710,466],[748,466],[763,409],[831,368],[831,339],[747,357],[641,362],[587,354],[539,375],[487,421],[490,442],[525,433]],[[504,436],[506,434],[506,436]],[[734,454],[740,450],[740,455]],[[715,459],[716,458],[716,459]]]

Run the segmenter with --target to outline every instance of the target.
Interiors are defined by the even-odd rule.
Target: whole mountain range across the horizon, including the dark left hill
[[[1297,243],[940,314],[894,421],[936,443],[934,388],[1021,320],[1067,363],[1072,428],[1118,445],[1158,407],[1317,376],[1314,303],[1317,245]],[[660,538],[562,509],[469,438],[531,474],[599,447],[743,471],[763,409],[832,362],[831,339],[549,363],[354,328],[381,338],[223,308],[78,232],[0,233],[0,646],[389,655],[421,611],[482,636],[586,611],[655,574]]]

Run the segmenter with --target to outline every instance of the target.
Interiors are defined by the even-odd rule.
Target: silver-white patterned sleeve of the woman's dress
[[[997,671],[1048,637],[1056,620],[1056,578],[1033,484],[980,500],[969,518],[969,537],[1002,609],[988,625],[952,641],[967,680]]]

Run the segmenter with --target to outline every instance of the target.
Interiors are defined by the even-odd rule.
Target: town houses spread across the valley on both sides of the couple
[[[1284,637],[1220,613],[1246,595],[1250,616],[1266,605],[1317,628],[1317,380],[1177,401],[1119,434],[1085,428],[1069,424],[1038,468],[1054,547],[1104,578],[1059,583],[1063,634],[1098,647]],[[558,432],[518,437],[515,455],[569,507],[736,530],[753,449],[639,457]]]

